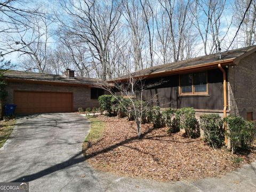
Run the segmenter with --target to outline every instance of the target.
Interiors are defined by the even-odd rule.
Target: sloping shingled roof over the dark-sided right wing
[[[166,63],[164,65],[150,67],[150,68],[132,73],[131,75],[133,77],[145,77],[145,76],[153,76],[153,75],[160,76],[161,74],[164,74],[167,72],[181,71],[182,69],[188,69],[191,67],[200,68],[200,67],[206,66],[207,64],[215,63],[216,65],[216,63],[234,62],[235,60],[238,60],[238,58],[242,57],[243,55],[246,55],[246,53],[249,53],[249,52],[251,53],[254,51],[256,51],[256,45],[221,52],[221,59],[219,58],[220,57],[219,53],[215,53],[215,54],[205,55],[202,57],[196,57],[193,59],[187,59],[187,60],[182,60],[182,61],[177,61],[172,63]],[[129,76],[125,75],[122,77],[118,77],[110,80],[109,82],[122,80],[126,78],[129,78]]]

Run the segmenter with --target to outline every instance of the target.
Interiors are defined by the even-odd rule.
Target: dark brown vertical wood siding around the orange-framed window
[[[207,70],[208,95],[179,95],[179,75],[148,79],[148,84],[162,82],[154,89],[145,90],[144,99],[161,108],[223,110],[223,76],[219,69]]]

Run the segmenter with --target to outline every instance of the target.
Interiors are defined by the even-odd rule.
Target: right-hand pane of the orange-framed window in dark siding
[[[200,72],[194,74],[194,87],[196,92],[207,91],[207,74],[206,72]]]

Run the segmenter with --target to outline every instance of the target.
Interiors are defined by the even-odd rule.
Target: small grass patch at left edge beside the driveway
[[[3,147],[5,141],[9,138],[15,125],[15,119],[0,122],[0,148]]]

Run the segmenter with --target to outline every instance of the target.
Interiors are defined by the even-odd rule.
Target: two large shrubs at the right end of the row
[[[224,125],[228,127],[224,130]],[[251,147],[255,135],[255,126],[241,116],[229,115],[222,119],[218,114],[201,115],[200,126],[204,131],[204,139],[213,148],[223,145],[226,137],[230,139],[233,153],[237,149],[247,150]]]

